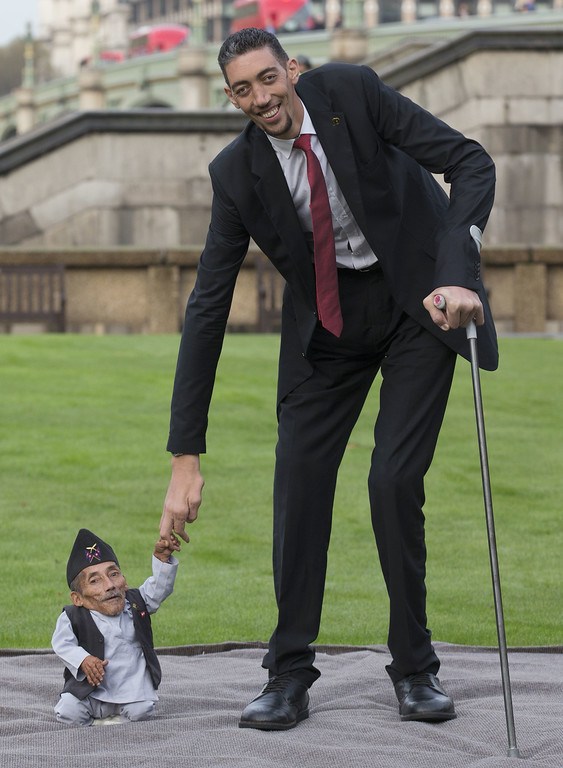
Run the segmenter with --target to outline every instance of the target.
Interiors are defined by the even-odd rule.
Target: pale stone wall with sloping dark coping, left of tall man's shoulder
[[[207,165],[240,131],[239,115],[175,113],[170,123],[155,113],[103,114],[104,130],[87,129],[91,113],[69,118],[64,127],[76,136],[63,133],[50,151],[55,126],[22,138],[30,156],[11,168],[0,152],[0,244],[168,248],[205,239]]]

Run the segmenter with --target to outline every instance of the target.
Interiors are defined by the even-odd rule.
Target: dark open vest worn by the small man
[[[128,589],[125,596],[131,605],[135,637],[141,644],[147,669],[156,690],[160,685],[162,672],[154,650],[151,617],[138,589]],[[92,656],[103,660],[104,636],[96,626],[90,611],[78,605],[65,605],[63,610],[69,618],[78,644]],[[72,693],[77,699],[85,699],[94,690],[94,686],[90,685],[87,680],[76,680],[66,667],[64,678],[63,693]]]

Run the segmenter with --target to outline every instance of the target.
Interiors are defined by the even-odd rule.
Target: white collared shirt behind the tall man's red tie
[[[301,102],[303,103],[303,102]],[[311,134],[311,149],[319,158],[325,177],[328,199],[332,212],[334,242],[336,246],[336,264],[347,269],[366,269],[377,261],[366,238],[360,230],[336,177],[330,167],[313,122],[303,104],[303,124],[301,134]],[[312,232],[309,203],[311,191],[307,179],[307,159],[300,149],[293,149],[295,139],[278,139],[266,134],[282,167],[282,171],[293,198],[297,215],[304,232]]]

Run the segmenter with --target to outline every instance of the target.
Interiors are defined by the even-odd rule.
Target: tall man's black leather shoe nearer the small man
[[[239,728],[286,731],[309,717],[309,692],[291,674],[270,678],[258,696],[244,709]]]

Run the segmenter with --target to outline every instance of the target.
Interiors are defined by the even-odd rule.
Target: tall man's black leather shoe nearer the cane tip
[[[401,720],[453,720],[454,703],[436,675],[421,672],[395,683]]]

